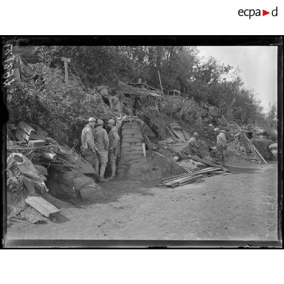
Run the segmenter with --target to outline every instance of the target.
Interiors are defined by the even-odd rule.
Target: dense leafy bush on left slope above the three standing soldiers
[[[37,79],[35,79],[37,78]],[[14,82],[7,90],[7,104],[19,121],[38,124],[59,143],[74,139],[90,117],[108,120],[110,108],[93,90],[67,85],[59,69],[38,65],[33,79]]]

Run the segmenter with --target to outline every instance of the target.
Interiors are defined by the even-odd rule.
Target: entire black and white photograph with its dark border
[[[282,246],[281,44],[4,37],[4,246]]]

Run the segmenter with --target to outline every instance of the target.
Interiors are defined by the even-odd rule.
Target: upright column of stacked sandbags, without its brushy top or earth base
[[[131,165],[143,158],[144,138],[139,123],[126,121],[121,127],[120,164]]]

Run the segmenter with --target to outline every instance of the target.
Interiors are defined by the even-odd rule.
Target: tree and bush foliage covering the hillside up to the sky
[[[194,46],[33,46],[40,64],[33,87],[17,82],[8,90],[8,103],[16,120],[39,123],[60,140],[78,132],[90,116],[109,118],[110,109],[95,87],[117,87],[142,78],[160,89],[177,89],[220,108],[227,120],[263,122],[260,101],[244,88],[240,72],[214,58],[204,60]],[[78,91],[62,81],[61,57],[71,58],[88,91]],[[71,101],[71,104],[65,102]],[[149,106],[149,116],[155,106]],[[277,109],[277,108],[276,108]],[[147,112],[147,110],[145,110]],[[194,115],[195,116],[195,115]],[[266,117],[275,126],[275,106]],[[277,122],[276,122],[277,123]]]

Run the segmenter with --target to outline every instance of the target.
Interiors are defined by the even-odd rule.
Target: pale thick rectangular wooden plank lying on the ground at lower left
[[[58,208],[40,196],[29,196],[25,199],[25,202],[47,218],[52,218],[60,212]]]

